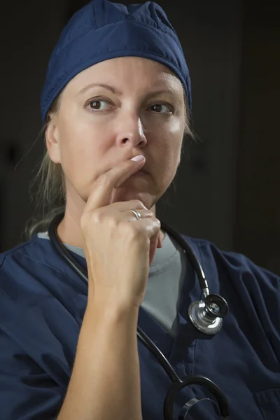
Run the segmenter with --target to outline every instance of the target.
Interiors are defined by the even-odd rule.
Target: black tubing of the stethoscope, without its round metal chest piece
[[[57,225],[60,221],[62,221],[62,218],[64,217],[64,214],[59,214],[55,216],[55,218],[50,223],[50,227],[48,230],[48,234],[50,237],[50,241],[52,242],[53,246],[55,246],[55,249],[59,253],[59,255],[62,257],[62,259],[66,260],[66,262],[70,265],[70,267],[73,269],[76,274],[84,281],[84,283],[88,286],[88,279],[87,279],[87,272],[85,272],[85,269],[78,264],[78,262],[73,258],[71,253],[65,248],[65,246],[62,244],[62,241],[60,241],[59,236],[57,235]],[[190,256],[190,260],[193,262],[193,265],[195,267],[195,271],[197,272],[197,276],[200,279],[200,286],[205,287],[205,283],[207,283],[202,266],[200,265],[200,261],[197,259],[193,249],[190,247],[190,245],[184,241],[184,239],[177,234],[172,228],[164,223],[161,223],[162,228],[170,233],[176,240],[179,241],[183,249],[186,249],[186,252]],[[208,286],[207,286],[208,288]],[[170,365],[167,358],[164,356],[164,354],[158,349],[158,346],[155,345],[155,343],[148,337],[148,335],[145,334],[143,330],[137,325],[137,337],[139,341],[146,346],[146,348],[151,351],[153,356],[158,360],[160,365],[164,368],[165,372],[167,373],[169,379],[172,381],[172,386],[169,388],[169,391],[167,393],[167,396],[165,398],[165,406],[164,406],[164,415],[165,420],[174,420],[173,416],[173,406],[176,394],[181,391],[182,388],[185,388],[186,386],[190,385],[201,385],[207,388],[211,393],[214,394],[216,397],[216,400],[218,401],[218,409],[220,410],[221,416],[224,419],[229,419],[229,410],[228,410],[228,401],[225,398],[225,395],[221,391],[221,389],[214,384],[213,381],[208,379],[207,377],[204,377],[202,375],[188,375],[188,377],[185,377],[184,379],[181,379],[178,374],[176,374],[175,370],[173,369],[172,365]],[[216,403],[216,402],[215,402]]]

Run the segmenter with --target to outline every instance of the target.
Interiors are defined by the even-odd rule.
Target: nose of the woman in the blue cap
[[[130,146],[130,148],[144,147],[147,139],[144,127],[139,116],[126,116],[119,123],[116,141],[118,146]]]

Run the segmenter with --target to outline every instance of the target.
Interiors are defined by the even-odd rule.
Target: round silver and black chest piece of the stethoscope
[[[188,316],[204,334],[215,335],[221,330],[223,318],[228,314],[228,303],[219,295],[208,295],[204,300],[190,304]]]

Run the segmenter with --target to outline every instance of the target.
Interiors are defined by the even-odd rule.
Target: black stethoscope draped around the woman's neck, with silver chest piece
[[[62,258],[69,264],[69,266],[80,276],[86,285],[88,285],[87,280],[87,273],[85,269],[73,258],[71,253],[65,248],[62,241],[59,239],[57,235],[57,226],[59,225],[60,221],[64,214],[59,214],[55,216],[55,218],[50,223],[48,234],[50,237],[50,241],[55,246],[55,249],[62,256]],[[193,302],[190,304],[188,309],[188,315],[190,317],[190,321],[193,323],[195,328],[204,332],[205,334],[214,335],[219,330],[221,330],[223,325],[223,318],[228,314],[228,303],[221,297],[220,295],[209,294],[209,288],[207,279],[205,277],[204,271],[202,266],[200,265],[200,261],[198,260],[195,252],[190,247],[190,245],[179,235],[175,230],[170,228],[169,226],[165,225],[165,223],[161,223],[161,227],[165,230],[169,235],[174,237],[176,241],[182,246],[185,253],[188,254],[193,266],[195,267],[195,272],[200,280],[200,287],[202,288],[202,293],[204,295],[204,300],[199,300],[197,302]],[[179,414],[178,420],[185,420],[187,418],[187,414],[190,409],[202,400],[210,400],[214,402],[214,404],[218,407],[218,410],[221,414],[223,419],[229,419],[229,411],[228,411],[228,401],[225,398],[225,395],[221,391],[221,389],[214,384],[213,381],[208,379],[207,377],[191,374],[184,379],[180,379],[179,376],[174,371],[172,365],[170,365],[169,361],[165,356],[162,354],[160,349],[152,342],[151,339],[145,334],[141,328],[137,327],[137,337],[139,338],[140,342],[146,346],[146,348],[153,353],[155,358],[158,359],[158,362],[162,367],[165,369],[165,372],[168,374],[169,378],[172,381],[172,386],[169,388],[165,398],[164,404],[164,416],[165,420],[175,420],[174,419],[174,402],[176,400],[176,395],[179,394],[181,389],[186,388],[186,386],[190,385],[201,385],[207,388],[211,393],[213,393],[215,400],[211,400],[211,398],[192,398],[182,407],[181,412]]]

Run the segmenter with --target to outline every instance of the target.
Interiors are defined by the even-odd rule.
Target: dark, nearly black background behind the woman
[[[144,1],[123,1],[123,3]],[[1,1],[0,250],[23,240],[43,155],[39,100],[62,27],[87,1]],[[280,275],[279,1],[158,0],[179,34],[193,127],[158,217]],[[37,141],[36,141],[37,139]]]

